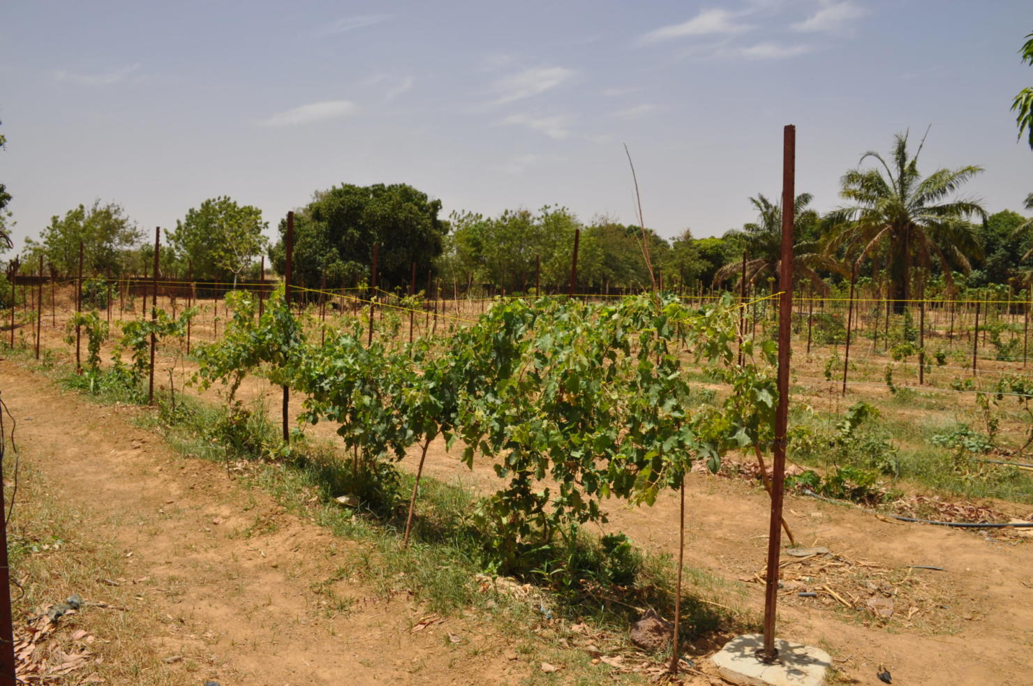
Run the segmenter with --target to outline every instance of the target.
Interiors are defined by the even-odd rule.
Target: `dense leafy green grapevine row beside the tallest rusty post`
[[[371,486],[363,497],[380,504],[397,486],[395,463],[418,445],[406,541],[430,443],[461,440],[464,463],[487,460],[502,479],[473,512],[499,571],[533,568],[558,539],[572,545],[581,526],[605,521],[604,499],[652,504],[683,488],[693,462],[716,471],[729,449],[771,444],[775,345],[747,340],[737,362],[730,297],[700,309],[671,295],[500,301],[443,342],[407,346],[368,345],[363,326],[310,344],[282,295],[257,320],[247,299],[231,302],[225,339],[199,351],[201,385],[226,384],[232,404],[244,375],[259,371],[301,392],[302,417],[338,425]],[[731,393],[699,405],[689,362]]]

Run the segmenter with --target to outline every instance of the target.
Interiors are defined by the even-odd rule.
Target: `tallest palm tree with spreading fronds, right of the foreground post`
[[[840,195],[853,205],[827,217],[832,224],[828,250],[844,244],[860,246],[857,263],[880,248],[886,250],[889,297],[897,301],[898,312],[903,311],[904,302],[911,295],[913,267],[928,269],[935,256],[949,281],[951,263],[968,272],[969,258],[981,258],[982,247],[968,218],[987,217],[977,199],[951,197],[965,182],[982,172],[981,167],[937,169],[922,179],[918,155],[926,141],[922,138],[911,157],[907,138],[907,132],[894,136],[889,161],[877,152],[862,155],[858,168],[850,169],[840,181]],[[862,169],[859,165],[869,158],[882,168]]]

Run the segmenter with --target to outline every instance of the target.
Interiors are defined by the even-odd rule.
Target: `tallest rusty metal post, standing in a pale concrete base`
[[[789,345],[792,333],[792,229],[790,208],[795,200],[796,127],[785,127],[782,158],[782,270],[778,325],[778,407],[772,466],[772,513],[768,535],[768,575],[764,593],[765,659],[775,659],[775,610],[778,602],[779,553],[782,544],[782,496],[785,486],[785,435],[789,420]]]

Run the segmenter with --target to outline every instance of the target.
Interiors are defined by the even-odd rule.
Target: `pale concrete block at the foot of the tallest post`
[[[778,661],[760,661],[757,651],[763,648],[760,633],[748,633],[729,641],[711,659],[721,677],[733,684],[748,686],[824,686],[825,673],[832,664],[828,653],[818,648],[775,640]]]

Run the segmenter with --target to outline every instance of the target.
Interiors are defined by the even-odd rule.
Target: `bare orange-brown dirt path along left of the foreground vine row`
[[[154,616],[138,640],[155,660],[184,657],[173,664],[180,683],[515,683],[530,668],[503,658],[475,617],[410,634],[418,606],[370,599],[371,589],[347,582],[335,588],[352,609],[335,612],[315,589],[357,544],[285,513],[216,465],[179,457],[129,424],[135,410],[62,395],[8,361],[0,387],[20,418],[23,459],[87,513],[84,535],[124,551],[140,580],[128,610]],[[448,632],[462,642],[449,646]]]

